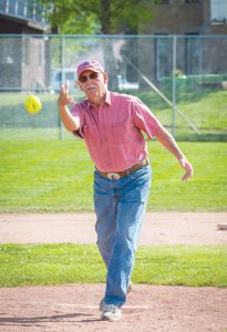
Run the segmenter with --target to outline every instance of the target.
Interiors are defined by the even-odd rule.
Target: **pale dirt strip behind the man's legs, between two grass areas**
[[[95,243],[94,214],[0,215],[0,243]],[[225,245],[227,212],[147,212],[141,245]]]

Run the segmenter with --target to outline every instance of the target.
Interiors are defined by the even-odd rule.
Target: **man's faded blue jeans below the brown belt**
[[[149,165],[116,180],[94,172],[97,247],[107,268],[106,304],[122,307],[126,301],[151,178]]]

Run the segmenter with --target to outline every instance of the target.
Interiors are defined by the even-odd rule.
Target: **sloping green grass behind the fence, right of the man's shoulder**
[[[165,102],[152,93],[138,93],[138,97],[155,113],[158,120],[172,128],[173,111]],[[176,112],[175,134],[183,141],[227,141],[227,91],[200,93],[183,92],[177,96],[177,108],[200,131],[195,134],[185,120]],[[169,95],[169,100],[172,97]]]

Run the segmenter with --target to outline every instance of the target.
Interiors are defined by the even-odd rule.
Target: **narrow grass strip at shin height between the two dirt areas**
[[[1,245],[0,287],[105,282],[93,245]],[[227,286],[226,246],[138,248],[132,280],[171,286]]]

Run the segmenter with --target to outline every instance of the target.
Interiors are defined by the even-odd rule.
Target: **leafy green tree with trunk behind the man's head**
[[[76,34],[136,34],[140,22],[153,18],[151,4],[155,0],[41,0],[48,7],[52,31]],[[117,87],[113,46],[110,39],[103,42],[110,89]]]

